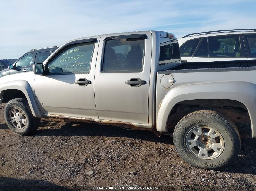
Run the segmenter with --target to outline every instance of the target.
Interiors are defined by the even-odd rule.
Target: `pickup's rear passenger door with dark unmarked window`
[[[95,72],[99,119],[148,124],[152,34],[102,35]]]

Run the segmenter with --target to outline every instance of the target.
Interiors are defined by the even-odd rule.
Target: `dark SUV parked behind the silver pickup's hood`
[[[19,72],[28,72],[32,70],[32,65],[35,63],[44,62],[59,46],[50,46],[39,49],[32,49],[21,56],[16,62],[9,62],[6,69],[0,71],[0,77],[16,74]]]

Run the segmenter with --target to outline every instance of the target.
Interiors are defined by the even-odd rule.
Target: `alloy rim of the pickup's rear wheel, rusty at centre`
[[[196,157],[214,159],[224,150],[224,139],[214,128],[197,126],[191,129],[186,136],[186,146]]]

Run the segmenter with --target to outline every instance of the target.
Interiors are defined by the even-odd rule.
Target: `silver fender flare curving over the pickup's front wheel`
[[[8,81],[1,85],[0,87],[0,99],[3,98],[3,94],[5,90],[20,90],[22,91],[27,100],[29,107],[32,111],[32,114],[34,117],[42,118],[42,113],[38,108],[37,102],[34,97],[34,91],[32,91],[31,86],[29,83],[25,80],[14,80],[14,81]]]

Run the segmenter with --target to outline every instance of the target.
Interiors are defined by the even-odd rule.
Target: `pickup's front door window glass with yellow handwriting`
[[[90,72],[94,44],[89,42],[68,46],[48,64],[48,72]]]

